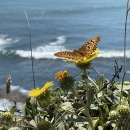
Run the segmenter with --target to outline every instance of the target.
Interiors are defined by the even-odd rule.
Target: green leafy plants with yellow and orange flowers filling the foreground
[[[96,50],[93,58],[97,54]],[[42,88],[31,90],[22,114],[16,103],[10,111],[1,113],[0,129],[124,130],[127,126],[129,130],[130,82],[124,82],[120,104],[121,83],[114,79],[119,78],[122,67],[116,62],[110,81],[101,74],[94,80],[89,76],[92,60],[71,60],[81,70],[80,81],[67,70],[57,72],[58,87],[51,90],[53,82],[47,82]]]

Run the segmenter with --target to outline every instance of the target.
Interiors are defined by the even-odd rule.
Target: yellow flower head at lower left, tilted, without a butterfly
[[[48,90],[51,86],[53,86],[53,82],[47,82],[41,89],[39,88],[36,88],[36,89],[33,89],[32,91],[30,91],[29,93],[29,97],[36,97],[36,98],[46,98],[46,96],[48,95]]]

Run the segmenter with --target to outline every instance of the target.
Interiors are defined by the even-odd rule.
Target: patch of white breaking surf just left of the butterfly
[[[60,44],[64,44],[65,42],[66,42],[65,36],[56,37],[53,42],[49,43],[49,45],[39,46],[33,49],[32,56],[35,59],[42,59],[42,58],[56,59],[57,57],[54,56],[55,52],[66,50],[64,46],[60,46]],[[31,56],[30,50],[28,51],[16,50],[15,53],[20,57],[24,57],[24,58],[30,58]]]

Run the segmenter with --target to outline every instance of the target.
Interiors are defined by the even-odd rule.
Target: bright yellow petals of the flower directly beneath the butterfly
[[[99,49],[96,48],[96,50],[90,56],[85,56],[83,59],[78,59],[78,60],[66,59],[65,61],[72,61],[72,62],[75,62],[77,64],[87,63],[98,56],[98,54],[99,54],[98,50]]]

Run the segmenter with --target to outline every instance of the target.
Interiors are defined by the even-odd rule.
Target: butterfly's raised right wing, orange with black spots
[[[83,53],[84,56],[91,55],[93,51],[96,49],[96,46],[100,39],[100,36],[92,38],[91,40],[87,41],[83,46],[81,46],[78,51]]]

